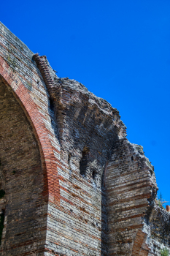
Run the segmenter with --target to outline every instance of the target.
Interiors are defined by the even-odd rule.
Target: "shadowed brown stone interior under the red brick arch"
[[[15,255],[15,250],[34,252],[30,244],[39,241],[36,251],[41,255],[47,202],[39,146],[26,114],[1,78],[0,160],[1,247],[6,255]]]

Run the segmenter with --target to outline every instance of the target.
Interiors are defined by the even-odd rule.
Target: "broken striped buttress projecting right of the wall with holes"
[[[148,198],[157,192],[155,175],[141,146],[117,140],[107,167],[107,213],[109,228],[109,255],[137,255],[134,241],[142,230],[142,218],[149,206]],[[141,247],[143,235],[140,233]]]

